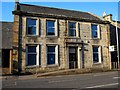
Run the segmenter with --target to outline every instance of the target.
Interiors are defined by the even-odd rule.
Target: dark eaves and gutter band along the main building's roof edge
[[[36,13],[36,12],[23,12],[23,11],[13,11],[13,14],[16,15],[21,15],[21,16],[41,16],[41,17],[47,17],[47,18],[57,18],[57,19],[72,19],[72,20],[77,20],[77,21],[86,21],[86,22],[96,22],[96,23],[104,23],[107,24],[108,22],[102,21],[102,20],[95,20],[95,19],[88,19],[88,18],[76,18],[72,16],[66,16],[66,15],[56,15],[56,14],[47,14],[47,13]]]

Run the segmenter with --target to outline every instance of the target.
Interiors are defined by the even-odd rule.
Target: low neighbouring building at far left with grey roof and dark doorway
[[[1,74],[12,72],[12,33],[13,22],[0,22],[0,68]]]

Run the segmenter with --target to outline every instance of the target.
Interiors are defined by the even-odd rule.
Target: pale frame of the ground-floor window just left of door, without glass
[[[48,46],[55,46],[55,64],[47,64]],[[46,45],[46,65],[58,65],[58,45]]]

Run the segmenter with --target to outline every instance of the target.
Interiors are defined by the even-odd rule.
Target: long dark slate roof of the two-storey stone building
[[[58,17],[66,17],[73,18],[73,19],[84,19],[84,20],[93,20],[93,21],[102,21],[99,17],[88,13],[88,12],[81,12],[81,11],[74,11],[74,10],[66,10],[60,8],[53,8],[53,7],[45,7],[45,6],[36,6],[36,5],[29,5],[29,4],[17,4],[17,9],[15,11],[21,11],[26,13],[33,13],[33,14],[42,14],[42,15],[51,15],[51,16],[58,16]],[[13,11],[13,14],[15,14]]]

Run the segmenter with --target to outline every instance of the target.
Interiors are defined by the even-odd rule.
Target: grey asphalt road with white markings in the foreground
[[[75,90],[94,88],[114,89],[118,88],[120,77],[118,71],[111,71],[47,77],[36,77],[35,75],[19,76],[18,78],[14,77],[13,79],[11,77],[4,79],[2,84],[3,88],[75,88]]]

